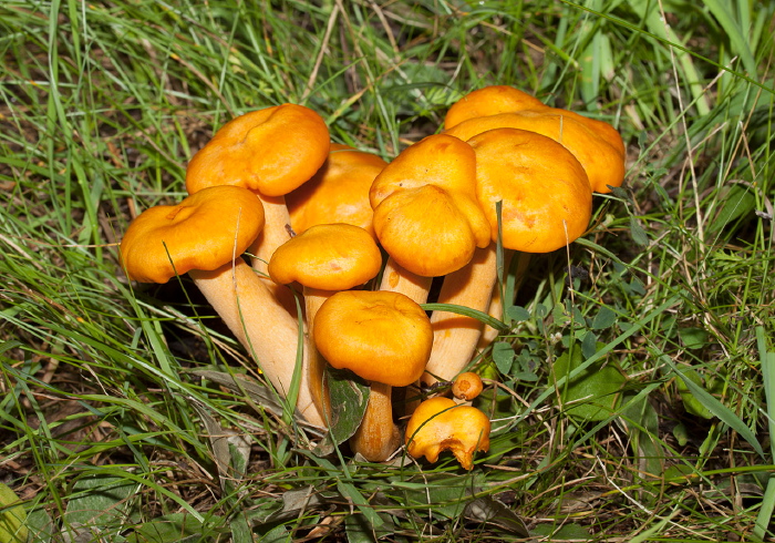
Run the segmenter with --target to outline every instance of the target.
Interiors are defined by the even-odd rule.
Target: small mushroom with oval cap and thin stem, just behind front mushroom
[[[316,316],[334,293],[364,284],[381,267],[382,253],[374,238],[360,226],[344,223],[312,226],[280,245],[269,260],[268,272],[275,283],[299,283],[303,287],[310,336],[308,366],[303,371],[323,417],[330,417],[330,406],[323,389],[326,361],[314,348]]]

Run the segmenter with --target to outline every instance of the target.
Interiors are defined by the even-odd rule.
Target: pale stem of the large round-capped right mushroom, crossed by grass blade
[[[444,278],[438,303],[486,311],[496,290],[495,262],[495,244],[484,249],[477,248],[471,263]],[[480,320],[448,311],[433,311],[431,325],[433,350],[422,377],[426,385],[433,385],[438,379],[450,381],[463,371],[471,362],[483,328]]]

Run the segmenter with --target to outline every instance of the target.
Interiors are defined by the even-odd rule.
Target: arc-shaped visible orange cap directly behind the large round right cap
[[[591,189],[611,192],[624,181],[624,144],[608,123],[588,119],[572,111],[556,107],[521,110],[464,121],[446,133],[468,141],[494,129],[520,129],[552,139],[562,144],[581,163]]]

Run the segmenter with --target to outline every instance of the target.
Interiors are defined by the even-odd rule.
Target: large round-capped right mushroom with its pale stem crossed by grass
[[[534,132],[498,129],[468,144],[476,154],[477,197],[504,247],[548,253],[579,237],[591,217],[592,193],[579,161],[562,145]],[[502,202],[500,225],[496,204]],[[495,244],[478,267],[444,279],[440,300],[482,311],[496,283]],[[465,320],[467,319],[467,320]],[[471,361],[482,325],[475,319],[434,311],[434,347],[423,382],[451,380]],[[465,326],[463,324],[465,322]]]

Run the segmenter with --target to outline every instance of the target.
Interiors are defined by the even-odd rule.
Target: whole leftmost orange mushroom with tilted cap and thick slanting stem
[[[261,203],[250,191],[209,187],[177,205],[141,213],[124,234],[121,257],[132,280],[167,283],[187,273],[255,356],[267,379],[286,396],[296,363],[298,327],[277,306],[255,310],[268,291],[240,256],[262,226]],[[301,391],[297,407],[310,423],[322,424],[309,395]]]

